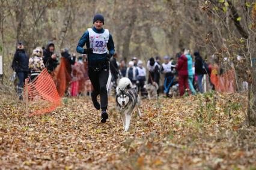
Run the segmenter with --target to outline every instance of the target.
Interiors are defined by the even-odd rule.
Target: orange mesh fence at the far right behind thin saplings
[[[214,66],[211,81],[218,92],[236,92],[236,77],[234,69],[230,69],[222,75],[218,75],[218,66]]]

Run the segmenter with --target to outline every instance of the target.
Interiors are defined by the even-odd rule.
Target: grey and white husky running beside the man
[[[139,117],[141,117],[141,111],[139,111],[141,99],[139,98],[137,90],[133,88],[132,82],[127,77],[120,79],[116,91],[117,97],[115,101],[117,103],[117,110],[121,114],[124,130],[128,131],[130,117],[135,107],[137,108]]]

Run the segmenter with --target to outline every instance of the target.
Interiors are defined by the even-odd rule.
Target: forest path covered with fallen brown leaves
[[[245,96],[205,95],[143,101],[124,132],[114,99],[110,119],[88,98],[28,118],[1,102],[0,169],[255,169],[256,129],[244,125]]]

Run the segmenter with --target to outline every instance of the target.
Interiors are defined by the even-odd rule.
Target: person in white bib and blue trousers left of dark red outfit
[[[172,64],[170,61],[169,56],[164,56],[163,59],[165,60],[164,63],[162,63],[162,70],[161,72],[165,75],[165,81],[163,83],[163,92],[166,94],[166,97],[171,97],[169,96],[169,89],[174,81],[174,68],[175,65]]]

